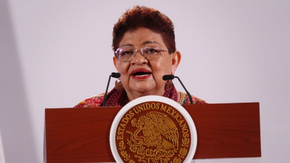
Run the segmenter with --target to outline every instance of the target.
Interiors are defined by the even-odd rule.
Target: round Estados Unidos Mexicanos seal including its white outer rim
[[[162,96],[144,96],[126,104],[110,131],[117,162],[190,162],[196,145],[197,133],[188,112]]]

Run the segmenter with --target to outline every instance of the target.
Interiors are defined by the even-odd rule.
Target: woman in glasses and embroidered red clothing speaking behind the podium
[[[135,6],[126,11],[113,29],[114,66],[120,82],[108,93],[106,106],[124,106],[146,95],[168,97],[190,104],[186,93],[176,91],[163,75],[174,75],[181,54],[176,51],[172,21],[153,8]],[[104,94],[81,101],[75,107],[102,106]],[[192,96],[193,103],[205,104]]]

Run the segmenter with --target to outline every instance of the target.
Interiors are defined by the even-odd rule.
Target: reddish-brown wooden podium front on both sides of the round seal
[[[194,159],[261,157],[259,103],[183,107],[197,130]],[[44,162],[115,162],[109,132],[120,109],[45,109]]]

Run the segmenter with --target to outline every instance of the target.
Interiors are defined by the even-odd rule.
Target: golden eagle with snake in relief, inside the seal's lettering
[[[130,134],[127,144],[140,162],[168,162],[176,154],[179,133],[167,115],[151,111],[138,120],[132,119],[131,125],[137,129],[134,133],[126,131]]]

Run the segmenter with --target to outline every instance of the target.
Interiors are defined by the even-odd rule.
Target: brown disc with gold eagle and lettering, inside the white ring
[[[127,110],[118,122],[115,141],[121,159],[129,163],[181,163],[191,142],[186,119],[161,102]]]

